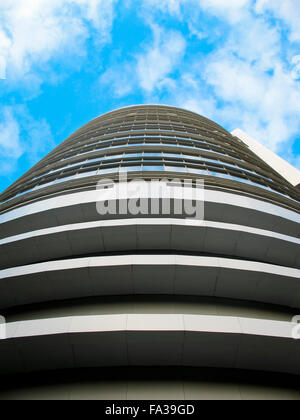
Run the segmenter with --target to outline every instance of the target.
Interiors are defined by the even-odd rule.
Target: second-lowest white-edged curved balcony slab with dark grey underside
[[[186,255],[51,261],[0,271],[0,307],[92,296],[189,295],[300,308],[300,270]]]

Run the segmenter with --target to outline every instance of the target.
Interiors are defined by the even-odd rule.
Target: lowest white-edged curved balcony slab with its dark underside
[[[296,324],[200,315],[109,315],[7,325],[0,372],[197,366],[300,373]]]

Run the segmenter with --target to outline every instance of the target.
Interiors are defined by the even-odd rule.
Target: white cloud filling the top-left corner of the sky
[[[0,4],[0,56],[17,77],[58,54],[82,55],[87,22],[107,40],[115,0],[6,0]],[[8,73],[9,78],[11,74]]]

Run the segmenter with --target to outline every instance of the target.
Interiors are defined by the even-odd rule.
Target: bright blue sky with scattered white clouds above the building
[[[92,118],[162,103],[300,169],[299,0],[0,0],[0,190]]]

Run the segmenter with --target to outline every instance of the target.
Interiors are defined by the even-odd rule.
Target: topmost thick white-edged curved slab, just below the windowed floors
[[[113,190],[109,194],[113,197]],[[157,199],[155,190],[151,198]],[[117,216],[99,216],[96,210],[96,202],[99,200],[101,192],[92,190],[65,194],[7,211],[0,215],[0,238],[59,225],[99,221],[100,218],[101,220],[116,218]],[[295,237],[300,236],[299,213],[255,198],[205,190],[204,212],[205,219],[209,221],[237,223]],[[170,217],[173,217],[172,214]],[[176,217],[185,218],[186,215]]]

